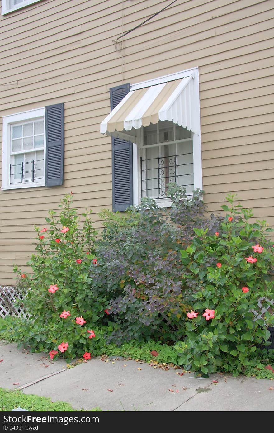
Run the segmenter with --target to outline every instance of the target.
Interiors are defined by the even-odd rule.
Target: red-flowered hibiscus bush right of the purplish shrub
[[[229,213],[219,231],[212,236],[194,228],[191,244],[181,250],[189,311],[186,337],[175,349],[184,368],[205,375],[244,372],[267,346],[268,326],[274,324],[274,246],[266,236],[273,230],[265,221],[249,223],[251,210],[241,210],[234,198],[222,206]]]

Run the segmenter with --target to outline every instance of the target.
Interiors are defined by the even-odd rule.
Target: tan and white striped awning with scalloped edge
[[[169,120],[195,132],[193,88],[193,74],[147,87],[134,85],[103,120],[100,132],[120,139],[132,137],[134,141],[138,129],[159,120]]]

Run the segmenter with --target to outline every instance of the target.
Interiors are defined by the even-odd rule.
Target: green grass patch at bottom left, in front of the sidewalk
[[[23,391],[17,389],[8,390],[0,388],[0,410],[12,410],[15,407],[22,407],[22,409],[35,410],[35,411],[52,411],[52,412],[73,412],[74,409],[71,404],[64,401],[52,402],[48,397],[39,397],[34,394],[23,394]],[[91,409],[93,412],[99,412],[101,409],[95,407]]]

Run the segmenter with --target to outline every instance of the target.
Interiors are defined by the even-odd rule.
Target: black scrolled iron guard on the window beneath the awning
[[[181,155],[169,155],[169,156],[162,156],[157,158],[148,158],[143,159],[141,157],[141,197],[143,197],[144,191],[155,191],[157,195],[158,191],[158,199],[160,198],[170,198],[171,196],[166,195],[168,190],[168,184],[178,184],[178,178],[181,178],[183,176],[191,176],[194,173],[187,173],[187,174],[180,174],[180,167],[187,166],[187,165],[193,165],[193,162],[186,163],[186,164],[177,164],[178,157],[179,156],[186,156],[190,155],[190,153],[184,153]],[[192,152],[191,152],[192,155]],[[150,164],[153,165],[153,161],[155,161],[157,166],[155,167],[146,167],[146,163],[150,161]],[[145,165],[145,168],[143,168],[143,165]],[[157,177],[155,178],[146,178],[146,173],[148,171],[155,171],[157,170]],[[146,184],[148,181],[158,181],[157,187],[150,187]],[[145,188],[143,188],[143,183],[145,183]],[[184,187],[187,186],[193,186],[193,183],[191,184],[183,184]]]

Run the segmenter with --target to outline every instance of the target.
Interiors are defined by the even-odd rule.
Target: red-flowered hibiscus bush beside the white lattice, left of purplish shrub
[[[59,217],[50,210],[45,218],[48,226],[35,227],[38,243],[28,263],[32,274],[14,269],[26,292],[20,302],[29,315],[16,323],[15,337],[32,351],[49,352],[52,359],[61,354],[88,359],[93,347],[100,345],[100,335],[92,328],[106,317],[106,297],[94,296],[90,290],[90,266],[98,264],[91,211],[82,214],[80,223],[71,202],[71,195],[65,195]]]

